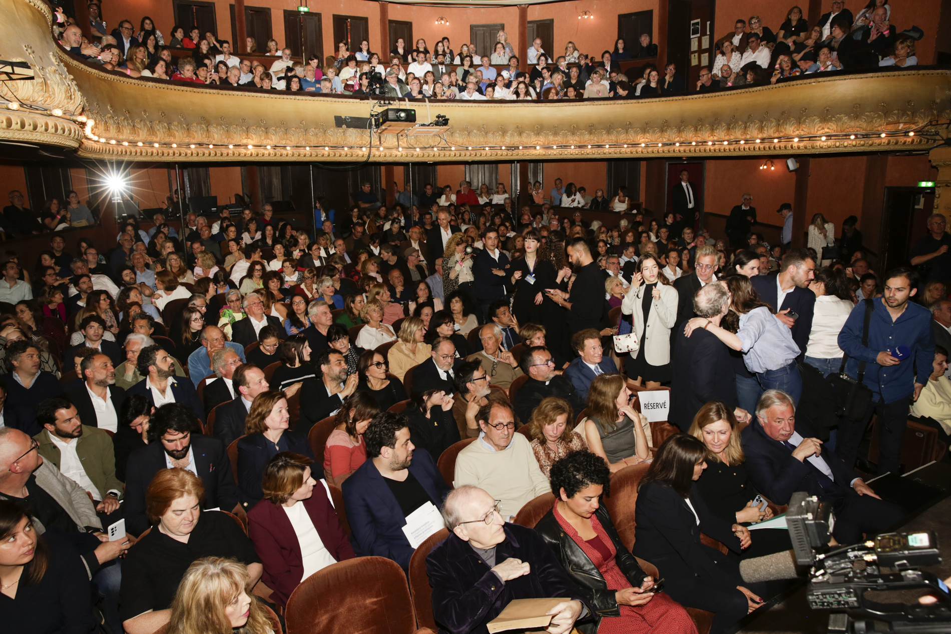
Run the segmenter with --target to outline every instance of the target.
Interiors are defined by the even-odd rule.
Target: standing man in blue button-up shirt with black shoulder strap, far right
[[[890,271],[885,276],[883,296],[865,299],[856,306],[839,333],[839,347],[849,356],[845,372],[858,377],[873,393],[860,420],[843,416],[839,425],[836,451],[849,467],[855,464],[865,427],[876,413],[882,425],[879,473],[899,470],[908,406],[922,394],[935,355],[931,314],[924,306],[908,301],[917,286],[918,275],[912,269]],[[868,317],[866,311],[870,312]],[[868,345],[863,345],[866,318]]]

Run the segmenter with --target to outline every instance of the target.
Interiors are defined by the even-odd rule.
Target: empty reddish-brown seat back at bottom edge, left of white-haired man
[[[416,613],[406,575],[385,557],[357,557],[301,582],[284,610],[287,634],[412,634]]]

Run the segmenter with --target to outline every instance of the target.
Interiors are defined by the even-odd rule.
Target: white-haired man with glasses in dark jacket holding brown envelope
[[[485,631],[515,599],[564,597],[548,611],[553,617],[545,631],[572,631],[588,614],[584,597],[539,534],[504,523],[498,509],[499,501],[478,487],[456,487],[446,496],[442,517],[450,534],[426,557],[437,623],[453,632]]]

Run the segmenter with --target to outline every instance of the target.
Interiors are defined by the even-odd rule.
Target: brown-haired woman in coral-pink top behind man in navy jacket
[[[376,399],[365,392],[355,392],[340,405],[337,427],[327,436],[323,450],[323,476],[340,487],[351,473],[366,461],[363,432],[379,413]]]

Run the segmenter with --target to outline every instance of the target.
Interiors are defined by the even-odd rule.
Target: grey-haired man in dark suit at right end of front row
[[[800,490],[830,502],[836,514],[832,535],[843,546],[859,542],[863,532],[879,533],[902,520],[900,507],[884,502],[842,458],[823,449],[809,421],[796,419],[788,394],[767,390],[756,411],[756,422],[743,431],[747,471],[756,490],[776,504],[788,504]]]

